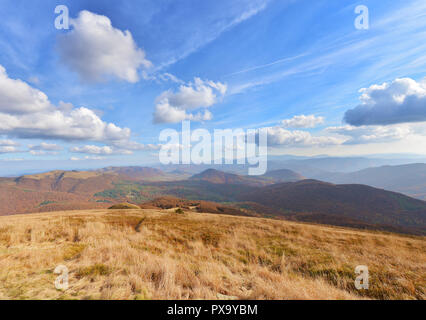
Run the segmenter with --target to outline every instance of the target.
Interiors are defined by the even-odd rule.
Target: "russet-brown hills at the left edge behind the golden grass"
[[[107,208],[111,203],[131,198],[137,192],[134,181],[161,181],[175,177],[152,168],[111,167],[0,178],[0,215]],[[101,195],[110,189],[119,189],[120,197],[114,199]]]

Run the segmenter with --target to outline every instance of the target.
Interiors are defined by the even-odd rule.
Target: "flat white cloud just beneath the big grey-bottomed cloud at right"
[[[392,142],[407,138],[414,131],[410,126],[341,126],[330,127],[326,131],[346,136],[344,144],[367,144]]]

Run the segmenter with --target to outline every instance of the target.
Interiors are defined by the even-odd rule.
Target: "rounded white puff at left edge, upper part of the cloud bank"
[[[11,79],[0,65],[0,112],[25,114],[47,110],[50,102],[40,90],[19,79]]]

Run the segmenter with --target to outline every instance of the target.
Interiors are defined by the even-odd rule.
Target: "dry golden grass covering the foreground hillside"
[[[0,299],[424,299],[425,277],[421,237],[159,210],[0,217]]]

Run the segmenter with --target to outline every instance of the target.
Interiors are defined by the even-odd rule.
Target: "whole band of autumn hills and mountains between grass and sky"
[[[410,165],[397,169],[407,172],[410,168],[423,170],[424,167]],[[386,174],[391,169],[369,170],[383,170],[382,175],[392,184],[393,180]],[[366,176],[368,172],[361,172],[349,178]],[[110,167],[1,178],[0,214],[107,208],[123,201],[155,206],[159,203],[155,199],[167,196],[207,201],[204,206],[212,208],[212,213],[426,233],[425,201],[359,183],[334,184],[305,179],[288,169],[273,170],[259,177],[207,169],[188,179],[185,177],[179,172],[167,173],[155,168]],[[410,181],[421,182],[421,177],[405,178],[407,187]]]

